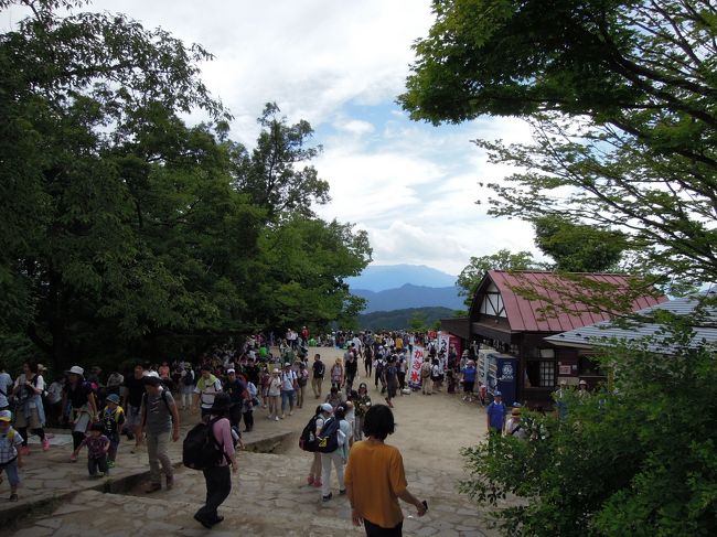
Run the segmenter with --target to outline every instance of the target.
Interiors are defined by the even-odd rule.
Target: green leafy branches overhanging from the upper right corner
[[[411,117],[529,118],[535,143],[478,141],[523,170],[494,215],[624,234],[634,270],[714,281],[717,8],[705,0],[436,0],[400,97]]]

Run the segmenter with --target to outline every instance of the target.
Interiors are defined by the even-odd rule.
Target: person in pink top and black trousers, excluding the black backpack
[[[224,520],[217,509],[232,492],[232,474],[238,471],[232,426],[227,418],[231,404],[227,394],[217,394],[206,418],[212,427],[214,441],[222,450],[216,465],[202,471],[206,483],[206,501],[204,506],[194,514],[194,519],[207,529]],[[232,464],[231,473],[228,463]]]

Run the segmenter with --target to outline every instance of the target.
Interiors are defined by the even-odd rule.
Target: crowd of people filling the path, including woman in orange
[[[126,437],[129,445],[125,449],[132,453],[147,452],[150,481],[145,491],[170,490],[174,473],[169,445],[180,439],[181,412],[196,410],[212,423],[212,433],[225,450],[216,468],[204,470],[207,500],[195,515],[199,523],[212,527],[221,522],[217,507],[231,491],[229,472],[236,471],[235,450],[243,448],[242,434],[252,431],[255,414],[260,412],[272,422],[291,419],[295,409],[302,408],[313,395],[317,405],[313,432],[321,434],[334,423],[332,427],[342,441],[332,452],[313,454],[308,484],[320,488],[322,501],[328,502],[333,496],[330,483],[335,472],[339,494],[346,494],[355,505],[354,519],[364,520],[366,528],[398,527],[399,530],[397,497],[416,505],[419,514],[425,513],[424,505],[406,491],[403,463],[397,471],[394,449],[376,455],[392,469],[393,500],[387,504],[388,511],[375,511],[376,506],[372,507],[372,502],[363,498],[364,476],[351,462],[352,447],[364,441],[357,453],[372,450],[383,453],[381,445],[393,432],[393,426],[388,425],[393,422],[390,408],[396,397],[411,388],[422,388],[426,395],[441,391],[447,374],[449,377],[456,374],[462,375],[465,393],[472,396],[470,377],[474,365],[467,354],[459,359],[454,352],[450,356],[439,353],[434,341],[422,334],[334,332],[319,340],[341,346],[342,357],[324,364],[320,352],[309,356],[311,339],[303,327],[299,332],[288,331],[280,340],[257,335],[248,337],[238,348],[215,347],[194,361],[137,362],[131,370],[114,370],[107,375],[97,366],[86,370],[74,365],[55,375],[50,384],[43,378],[46,370],[41,364],[23,364],[22,373],[14,379],[3,368],[0,373],[0,469],[11,486],[10,500],[18,500],[18,470],[30,455],[29,436],[40,439],[42,450],[50,449],[46,426],[71,430],[69,461],[76,462],[85,450],[87,472],[95,477],[113,472],[118,464],[121,439]],[[278,352],[277,347],[269,346],[271,342]],[[407,375],[415,345],[428,350],[426,370],[430,382],[422,383],[421,378],[418,385],[409,386]],[[371,384],[376,393],[374,398],[381,404],[372,405]],[[456,391],[454,384],[449,382],[447,391]],[[377,421],[372,423],[374,415]],[[355,460],[368,457],[365,453],[356,454]]]

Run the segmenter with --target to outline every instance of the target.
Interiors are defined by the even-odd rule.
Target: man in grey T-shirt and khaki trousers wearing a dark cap
[[[146,493],[162,488],[160,464],[164,471],[167,490],[174,486],[174,469],[169,458],[169,439],[179,440],[179,411],[169,389],[162,387],[159,376],[145,377],[145,398],[142,399],[142,429],[147,431],[147,458],[149,460],[150,483]]]

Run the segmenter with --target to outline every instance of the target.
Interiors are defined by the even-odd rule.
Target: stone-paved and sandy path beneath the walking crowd
[[[329,358],[336,355],[325,348],[319,352]],[[381,400],[373,385],[371,396],[374,402]],[[65,462],[69,448],[33,452],[23,469],[20,504],[0,500],[4,524],[0,537],[364,535],[363,529],[351,525],[349,503],[336,494],[335,476],[334,497],[327,503],[321,502],[318,490],[306,484],[310,455],[299,450],[296,440],[317,402],[310,396],[303,409],[279,422],[267,420],[263,410],[256,412],[255,430],[245,441],[261,444],[261,449],[276,447],[278,452],[239,454],[239,475],[233,480],[232,495],[221,509],[225,522],[211,531],[192,519],[205,493],[202,474],[179,468],[174,490],[148,496],[137,479],[147,471],[146,454],[130,454],[125,443],[118,459],[121,468],[101,482],[86,476],[85,464]],[[388,442],[402,450],[409,488],[430,507],[425,517],[417,518],[413,507],[403,505],[404,535],[497,535],[486,529],[484,515],[456,491],[457,481],[464,477],[459,449],[484,436],[482,410],[447,394],[411,394],[398,398],[395,406],[398,426]],[[183,418],[188,423],[195,419],[188,415]],[[179,463],[180,443],[172,447],[172,459]],[[0,498],[7,496],[7,482],[0,485]],[[47,503],[53,496],[62,500]],[[23,506],[33,506],[33,511],[17,520],[8,519],[22,513],[10,509]]]

